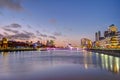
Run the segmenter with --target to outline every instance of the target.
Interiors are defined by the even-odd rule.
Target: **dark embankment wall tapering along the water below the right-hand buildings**
[[[87,51],[120,57],[120,49],[87,49]]]

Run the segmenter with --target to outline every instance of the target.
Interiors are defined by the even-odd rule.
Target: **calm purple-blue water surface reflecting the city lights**
[[[120,58],[70,50],[2,52],[0,80],[120,80]]]

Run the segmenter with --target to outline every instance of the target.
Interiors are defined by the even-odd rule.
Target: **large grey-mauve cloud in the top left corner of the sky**
[[[20,0],[0,0],[0,8],[8,8],[14,11],[23,10]]]

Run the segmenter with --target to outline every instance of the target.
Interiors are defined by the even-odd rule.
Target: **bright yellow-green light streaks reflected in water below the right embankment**
[[[114,73],[120,73],[120,58],[114,57],[106,54],[99,54],[99,60],[96,58],[96,64],[99,64],[99,67],[106,69]]]

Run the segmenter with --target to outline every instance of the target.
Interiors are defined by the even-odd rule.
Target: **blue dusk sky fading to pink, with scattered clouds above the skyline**
[[[0,0],[0,38],[79,46],[108,26],[120,29],[120,0]]]

